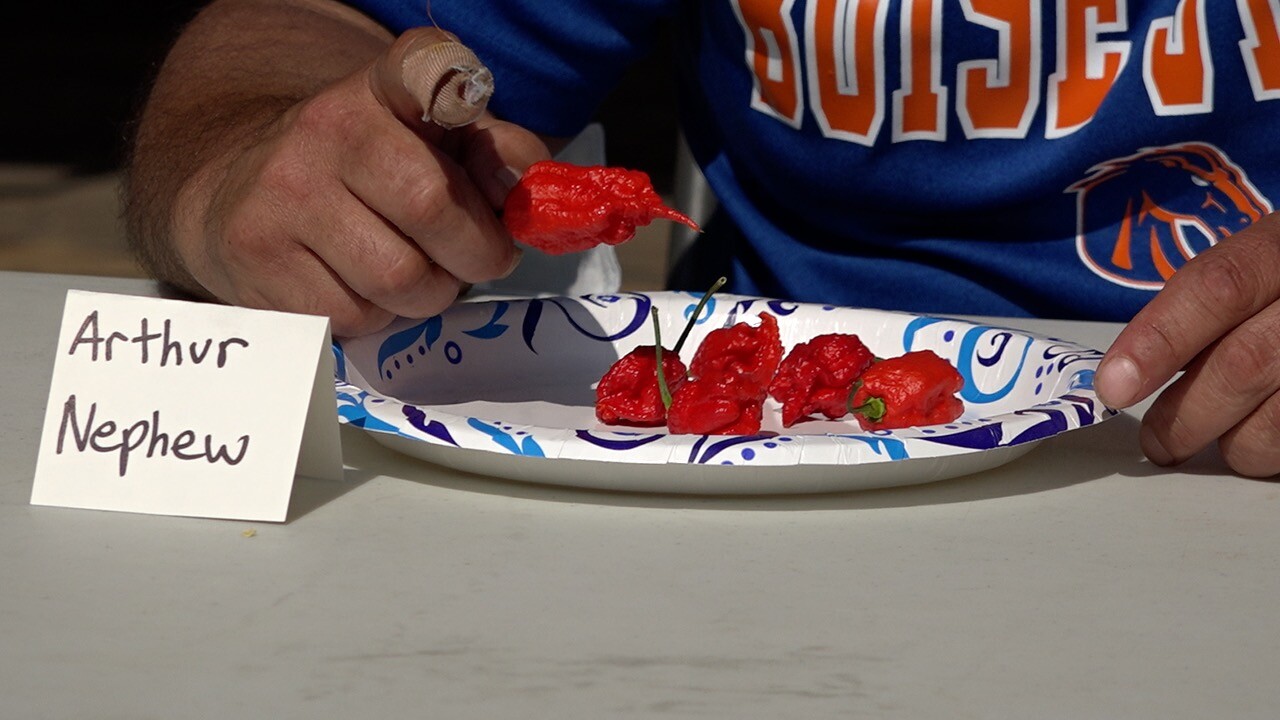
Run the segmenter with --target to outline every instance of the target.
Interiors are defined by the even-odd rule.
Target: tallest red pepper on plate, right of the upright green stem
[[[736,323],[707,334],[667,413],[673,433],[754,434],[760,432],[764,397],[782,360],[778,322],[760,313],[758,327]]]

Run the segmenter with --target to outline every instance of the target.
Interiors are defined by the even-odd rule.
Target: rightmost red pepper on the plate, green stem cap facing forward
[[[955,393],[964,378],[931,350],[874,363],[863,373],[849,407],[864,430],[950,423],[964,413]]]

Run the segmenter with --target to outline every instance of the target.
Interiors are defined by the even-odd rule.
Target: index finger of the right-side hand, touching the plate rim
[[[1275,213],[1201,252],[1125,325],[1098,365],[1108,406],[1142,401],[1202,350],[1280,299],[1280,218]]]

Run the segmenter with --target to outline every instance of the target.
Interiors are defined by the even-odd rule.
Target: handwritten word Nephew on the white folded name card
[[[143,320],[146,322],[146,320]],[[182,430],[170,436],[160,430],[160,411],[151,413],[150,419],[142,419],[129,427],[114,420],[97,421],[97,402],[88,406],[88,416],[81,418],[72,395],[63,405],[63,421],[58,428],[58,455],[67,443],[67,430],[79,452],[119,454],[119,473],[123,478],[129,469],[129,455],[146,451],[147,457],[156,455],[173,456],[178,460],[205,460],[209,464],[225,462],[239,465],[248,452],[248,436],[241,436],[239,448],[233,454],[229,445],[215,445],[212,437],[197,439],[195,430]]]

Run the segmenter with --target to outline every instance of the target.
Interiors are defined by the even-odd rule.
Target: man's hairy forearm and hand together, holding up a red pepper
[[[212,20],[206,17],[188,31],[188,46],[179,42],[170,55],[170,77],[161,74],[148,104],[134,168],[161,178],[166,172],[179,176],[169,182],[168,202],[157,197],[150,204],[160,219],[151,219],[155,237],[147,250],[161,255],[154,266],[172,270],[164,279],[237,305],[328,315],[335,334],[349,336],[374,332],[394,315],[435,314],[462,283],[499,278],[515,268],[518,251],[494,210],[520,172],[548,150],[536,136],[488,114],[448,131],[422,119],[434,83],[415,60],[454,38],[417,28],[379,42],[376,31],[346,26],[349,18],[342,12],[316,12],[324,3],[220,5],[228,8],[228,22],[248,22],[255,6],[291,15],[283,32],[294,37],[274,50],[283,63],[283,70],[275,68],[278,82],[288,85],[262,86],[246,77],[242,87],[236,72],[224,72],[220,77],[230,81],[216,87],[191,83],[191,76],[211,73],[201,70],[201,63],[224,70],[262,64],[261,56],[246,60],[202,41],[216,35],[210,22],[227,24],[218,22],[219,4],[211,9]],[[312,19],[321,31],[311,42],[297,37],[300,22]],[[349,59],[316,58],[308,67],[312,51],[340,53],[334,35],[352,40]],[[259,40],[270,44],[269,37]],[[255,77],[270,72],[260,68]],[[187,82],[175,82],[174,74]],[[184,85],[180,94],[178,85]],[[204,96],[202,102],[189,95]],[[189,132],[165,122],[172,108],[198,110],[220,101],[247,110],[201,129],[209,135],[195,143],[201,156],[188,160],[186,172],[169,170],[166,155],[182,167],[186,159],[175,155],[193,146],[164,142],[164,132]],[[138,178],[131,186],[141,193],[165,187]]]

